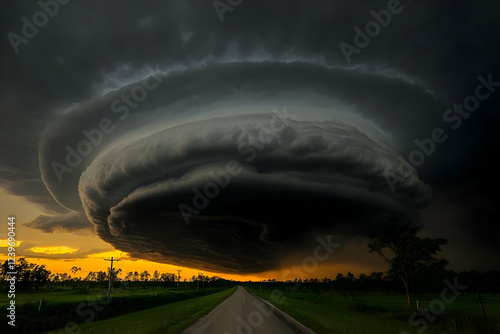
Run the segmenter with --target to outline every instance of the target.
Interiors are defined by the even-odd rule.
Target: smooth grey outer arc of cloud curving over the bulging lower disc
[[[245,77],[244,82],[242,77]],[[142,86],[142,82],[83,105],[45,132],[39,150],[40,168],[47,188],[59,203],[79,210],[81,202],[73,190],[77,188],[80,174],[99,152],[117,138],[129,137],[131,130],[161,123],[162,119],[166,127],[182,118],[210,117],[205,114],[211,115],[209,112],[217,109],[280,103],[303,106],[305,110],[300,113],[304,117],[309,117],[307,108],[323,108],[327,110],[324,117],[332,119],[347,105],[367,121],[387,129],[389,137],[398,138],[397,141],[392,139],[390,145],[401,148],[412,144],[419,134],[413,124],[422,118],[421,110],[441,110],[441,105],[432,96],[399,79],[304,63],[210,65],[156,80],[159,82],[157,88],[149,91],[143,101],[137,101],[136,108],[127,107],[124,102],[116,104],[115,108],[112,106],[113,101],[122,100],[123,94],[130,96],[134,87]],[[408,99],[413,101],[410,105],[406,102]],[[338,101],[343,105],[338,105]],[[269,112],[271,107],[262,109]],[[401,113],[406,116],[399,117]],[[103,119],[112,122],[110,130],[102,134],[102,139],[96,135],[99,144],[92,145],[91,153],[68,157],[72,150],[78,151],[82,140],[89,140],[83,132],[99,129]],[[425,120],[432,124],[432,117]],[[74,158],[76,155],[82,162],[73,166],[69,162],[78,160]],[[70,167],[71,171],[59,164]]]

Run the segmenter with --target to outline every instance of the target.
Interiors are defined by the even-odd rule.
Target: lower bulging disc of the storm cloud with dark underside
[[[429,201],[429,187],[416,177],[390,192],[384,172],[395,170],[398,157],[333,121],[290,120],[260,143],[259,153],[241,154],[271,119],[188,123],[101,154],[79,185],[97,234],[120,250],[169,263],[258,272],[300,247],[311,231],[339,224],[362,229],[393,215],[412,216]],[[194,205],[193,189],[205,191],[214,182],[210,174],[220,175],[233,159],[241,173],[186,224],[179,205]]]

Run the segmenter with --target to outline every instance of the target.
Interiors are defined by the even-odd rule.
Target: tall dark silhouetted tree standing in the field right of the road
[[[419,238],[418,227],[393,220],[370,238],[370,253],[376,252],[389,263],[388,274],[399,278],[405,287],[408,309],[412,309],[412,287],[417,275],[425,269],[444,268],[448,261],[437,259],[436,253],[446,245],[446,239]]]

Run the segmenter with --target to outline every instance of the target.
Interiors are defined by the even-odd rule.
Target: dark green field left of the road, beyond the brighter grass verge
[[[68,323],[78,325],[97,322],[152,309],[171,303],[199,299],[227,288],[206,288],[181,290],[166,288],[131,288],[115,290],[112,299],[106,298],[105,291],[56,289],[42,292],[16,294],[16,333],[47,333],[64,328]],[[7,295],[7,294],[5,294]],[[39,310],[39,301],[43,298]],[[5,296],[0,299],[0,317],[6,318]],[[12,327],[7,322],[0,323],[0,333],[9,332]],[[68,331],[72,332],[72,331]],[[76,332],[75,332],[76,333]]]

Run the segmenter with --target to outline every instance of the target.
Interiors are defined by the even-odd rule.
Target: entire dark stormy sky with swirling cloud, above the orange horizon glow
[[[0,185],[32,228],[252,273],[398,216],[498,267],[497,1],[1,6]]]

